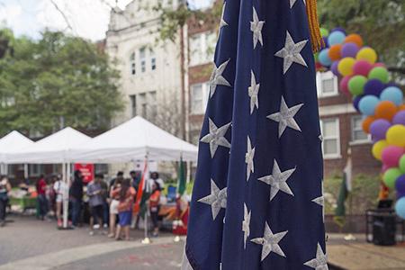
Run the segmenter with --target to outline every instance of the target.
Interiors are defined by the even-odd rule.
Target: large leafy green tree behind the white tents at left
[[[121,95],[103,49],[60,31],[13,39],[14,53],[0,59],[0,135],[109,127]]]

